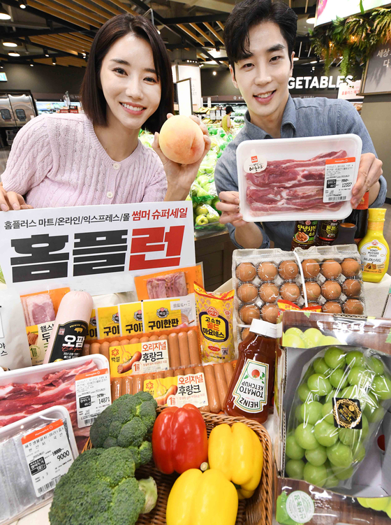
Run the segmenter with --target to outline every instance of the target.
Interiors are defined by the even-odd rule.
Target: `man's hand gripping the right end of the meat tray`
[[[376,159],[373,153],[364,153],[361,155],[360,166],[358,168],[357,182],[352,189],[351,205],[357,208],[364,193],[369,191],[369,204],[373,203],[378,196],[383,162]]]

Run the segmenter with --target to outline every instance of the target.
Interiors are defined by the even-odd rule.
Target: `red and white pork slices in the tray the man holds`
[[[345,150],[339,150],[304,161],[271,161],[261,173],[246,173],[246,180],[249,182],[246,197],[251,212],[259,215],[295,210],[316,212],[324,208],[339,209],[341,202],[323,202],[325,161],[344,159],[346,156]]]

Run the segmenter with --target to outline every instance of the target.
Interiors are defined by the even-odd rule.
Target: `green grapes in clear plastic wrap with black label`
[[[337,346],[318,352],[304,368],[290,409],[287,477],[351,488],[390,405],[390,372],[380,354]]]

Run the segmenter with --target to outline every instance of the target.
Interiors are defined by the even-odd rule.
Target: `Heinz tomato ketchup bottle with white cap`
[[[239,344],[239,359],[226,396],[225,412],[265,423],[269,415],[276,362],[276,325],[253,319]]]

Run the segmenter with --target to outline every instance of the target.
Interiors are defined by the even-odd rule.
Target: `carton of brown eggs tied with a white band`
[[[239,340],[249,333],[252,319],[276,323],[279,310],[364,314],[362,265],[356,245],[313,246],[294,252],[235,250],[233,284]]]

